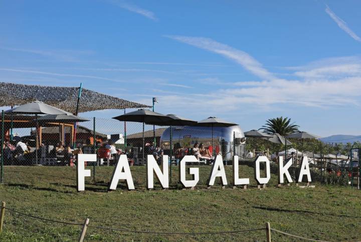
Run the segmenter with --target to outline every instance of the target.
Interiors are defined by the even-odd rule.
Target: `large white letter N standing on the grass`
[[[158,181],[160,182],[160,185],[162,188],[168,188],[168,156],[167,155],[163,155],[162,156],[162,168],[163,168],[163,173],[161,172],[158,164],[156,163],[156,160],[154,159],[153,155],[148,155],[147,156],[147,164],[146,164],[146,169],[147,169],[147,188],[148,189],[152,189],[154,187],[153,185],[153,171],[155,173],[155,176],[157,177]]]

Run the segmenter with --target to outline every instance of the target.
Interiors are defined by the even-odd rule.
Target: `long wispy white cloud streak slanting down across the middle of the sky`
[[[165,36],[167,38],[186,43],[201,49],[205,49],[224,57],[227,57],[238,64],[242,65],[246,70],[253,73],[254,75],[266,79],[275,79],[272,73],[268,72],[262,67],[256,59],[250,56],[248,53],[232,48],[228,45],[218,43],[212,39],[201,38],[201,37],[188,37],[188,36]]]

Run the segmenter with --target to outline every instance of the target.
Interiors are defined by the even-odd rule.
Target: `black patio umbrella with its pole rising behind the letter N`
[[[129,112],[117,117],[113,117],[113,119],[119,121],[128,121],[128,122],[138,122],[143,123],[143,162],[144,162],[144,124],[157,125],[158,123],[164,123],[166,121],[171,120],[170,117],[156,113],[147,109],[138,109],[133,112]]]

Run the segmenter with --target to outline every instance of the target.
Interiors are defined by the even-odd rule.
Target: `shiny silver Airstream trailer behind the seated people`
[[[211,127],[171,127],[172,145],[179,143],[182,148],[192,148],[195,143],[203,143],[205,147],[212,146]],[[169,151],[170,128],[164,130],[160,137],[163,150]],[[234,154],[243,157],[245,153],[245,135],[239,125],[213,128],[213,145],[217,154],[222,154],[223,160],[232,160]]]

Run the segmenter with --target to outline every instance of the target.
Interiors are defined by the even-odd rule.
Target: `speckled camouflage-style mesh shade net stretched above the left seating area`
[[[18,106],[42,101],[67,112],[75,112],[79,87],[49,87],[0,82],[0,106]],[[126,101],[88,89],[82,89],[78,111],[146,108],[147,105]]]

